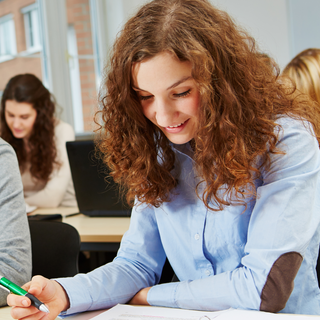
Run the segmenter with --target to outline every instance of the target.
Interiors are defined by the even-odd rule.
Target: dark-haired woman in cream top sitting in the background
[[[29,206],[77,206],[66,151],[74,131],[55,109],[53,96],[32,74],[14,76],[3,91],[0,136],[17,153]]]

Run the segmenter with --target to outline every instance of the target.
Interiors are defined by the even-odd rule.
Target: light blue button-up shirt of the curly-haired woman
[[[302,255],[295,285],[281,312],[320,314],[315,265],[319,251],[320,152],[297,120],[282,118],[269,171],[261,169],[256,198],[245,206],[207,210],[195,194],[199,181],[190,150],[176,153],[178,186],[160,208],[136,204],[116,259],[87,275],[59,279],[68,314],[128,302],[152,286],[151,305],[197,310],[259,310],[274,262]],[[182,151],[181,151],[182,150]],[[189,154],[189,155],[188,155]],[[201,193],[201,186],[200,186]],[[168,257],[180,282],[156,285]]]

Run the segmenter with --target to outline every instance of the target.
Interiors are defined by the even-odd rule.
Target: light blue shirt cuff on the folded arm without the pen
[[[148,303],[151,306],[177,308],[176,291],[179,284],[179,282],[171,282],[151,287],[147,296]]]

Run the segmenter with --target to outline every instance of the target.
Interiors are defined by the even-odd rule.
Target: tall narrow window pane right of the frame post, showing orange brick
[[[77,135],[92,132],[100,72],[95,46],[94,3],[66,0],[67,45],[73,124]]]

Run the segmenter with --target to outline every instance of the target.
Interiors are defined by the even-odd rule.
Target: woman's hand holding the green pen
[[[31,306],[31,301],[27,297],[9,294],[7,302],[9,306],[13,307],[11,309],[13,319],[53,320],[61,311],[67,310],[70,306],[65,290],[54,280],[35,276],[22,288],[43,302],[50,313],[39,311],[36,307]]]

